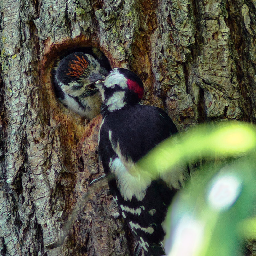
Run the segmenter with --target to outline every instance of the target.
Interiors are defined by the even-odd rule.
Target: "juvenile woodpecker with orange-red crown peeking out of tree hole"
[[[87,119],[100,114],[101,98],[94,83],[107,70],[90,54],[74,52],[60,60],[54,70],[54,90],[65,107]]]

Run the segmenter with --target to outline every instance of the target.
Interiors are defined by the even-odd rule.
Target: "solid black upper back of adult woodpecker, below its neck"
[[[133,162],[178,132],[171,118],[161,108],[140,104],[128,105],[109,113],[104,119],[102,132],[104,129],[112,131],[114,145],[118,141],[120,148],[124,149],[122,153],[130,156]]]

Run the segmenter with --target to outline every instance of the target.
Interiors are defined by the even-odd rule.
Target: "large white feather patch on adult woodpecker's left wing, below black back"
[[[138,201],[143,200],[146,189],[151,184],[151,178],[144,175],[132,176],[122,163],[119,157],[114,160],[111,158],[109,169],[116,177],[116,184],[124,200],[132,200],[135,196]]]

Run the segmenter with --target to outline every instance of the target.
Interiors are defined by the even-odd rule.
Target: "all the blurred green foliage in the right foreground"
[[[200,125],[165,140],[137,168],[152,176],[184,163],[215,159],[181,189],[168,211],[168,255],[241,255],[244,238],[256,239],[247,219],[256,198],[256,129],[242,122]],[[226,159],[216,164],[216,159]],[[221,162],[221,161],[217,161]]]

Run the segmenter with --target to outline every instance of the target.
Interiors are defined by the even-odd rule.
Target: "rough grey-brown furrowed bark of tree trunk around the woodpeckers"
[[[57,243],[102,173],[100,116],[85,121],[52,90],[63,51],[98,47],[112,67],[135,71],[144,103],[179,130],[256,121],[255,0],[1,0],[0,12],[0,255],[132,255],[106,182]]]

